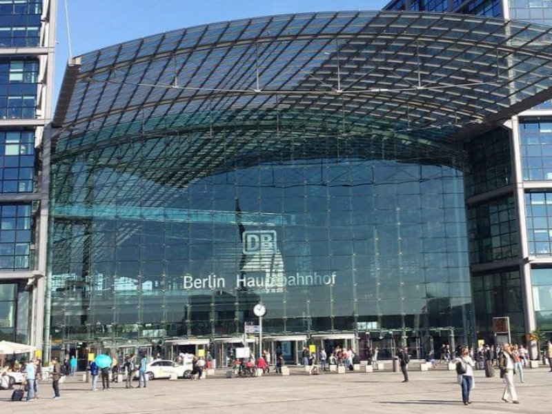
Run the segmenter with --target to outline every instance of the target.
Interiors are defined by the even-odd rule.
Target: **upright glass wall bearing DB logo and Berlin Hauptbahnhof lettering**
[[[399,143],[279,133],[277,145],[228,136],[218,171],[164,170],[166,184],[150,177],[205,137],[59,159],[54,339],[237,335],[262,300],[267,335],[370,322],[424,346],[439,329],[467,342],[461,168],[399,160]]]

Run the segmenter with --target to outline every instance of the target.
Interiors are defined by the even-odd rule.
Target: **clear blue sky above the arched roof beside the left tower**
[[[58,0],[55,99],[69,58],[150,34],[269,14],[380,10],[389,0]],[[66,8],[68,19],[66,20]],[[69,30],[67,23],[69,22]]]

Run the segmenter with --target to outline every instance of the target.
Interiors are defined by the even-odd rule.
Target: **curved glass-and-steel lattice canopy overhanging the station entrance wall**
[[[552,95],[552,28],[462,14],[321,12],[174,30],[82,55],[57,151],[239,125],[452,144]]]

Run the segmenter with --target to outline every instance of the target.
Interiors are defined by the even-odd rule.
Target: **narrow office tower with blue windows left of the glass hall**
[[[0,339],[41,347],[55,0],[0,1]]]

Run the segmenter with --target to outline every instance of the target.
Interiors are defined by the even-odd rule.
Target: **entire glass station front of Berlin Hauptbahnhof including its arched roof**
[[[551,96],[550,36],[317,13],[76,57],[53,120],[46,348],[209,344],[224,363],[257,302],[263,346],[292,362],[307,341],[473,344],[473,298],[520,291],[502,124]],[[522,309],[511,322],[521,340]]]

